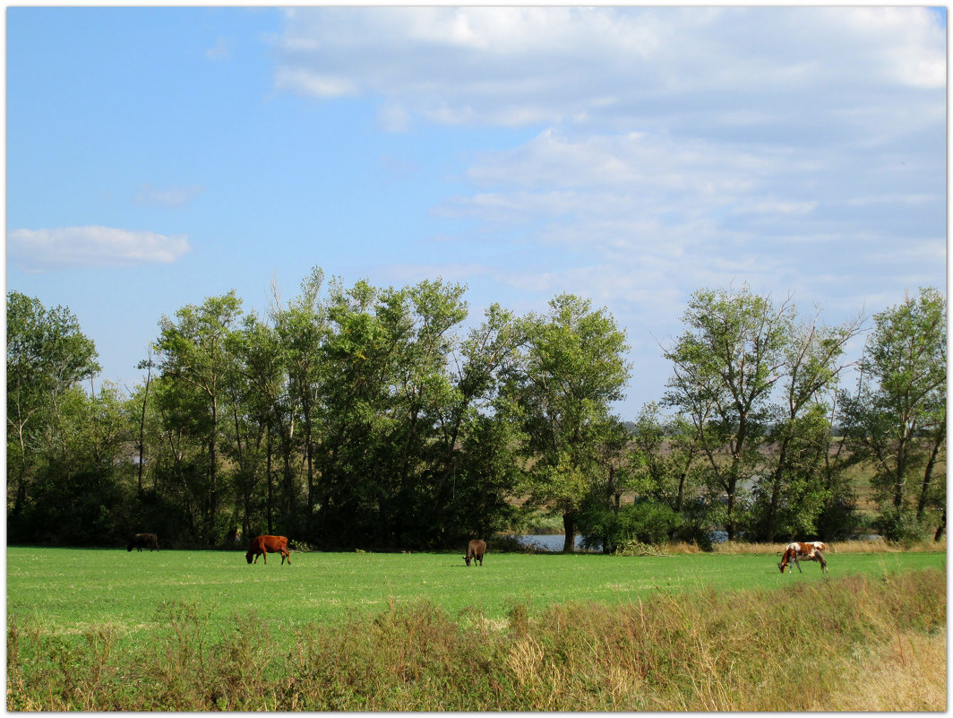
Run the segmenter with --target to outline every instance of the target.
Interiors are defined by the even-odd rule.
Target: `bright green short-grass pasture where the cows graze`
[[[444,553],[293,553],[249,565],[238,551],[133,551],[9,547],[8,619],[82,635],[112,626],[123,641],[149,641],[168,626],[170,605],[193,605],[212,634],[254,614],[272,635],[292,641],[312,624],[342,623],[391,607],[428,602],[451,616],[503,621],[515,605],[530,615],[566,603],[633,604],[653,594],[781,588],[850,574],[938,567],[945,553],[828,552],[830,573],[804,562],[781,575],[778,557],[694,554],[611,557],[591,554],[487,554],[467,567]]]

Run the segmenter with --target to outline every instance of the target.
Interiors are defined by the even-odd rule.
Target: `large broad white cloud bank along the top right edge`
[[[713,118],[702,133],[810,127],[819,113],[844,116],[858,89],[917,105],[916,92],[944,91],[946,66],[945,29],[905,7],[297,8],[274,50],[279,91],[374,97],[386,116],[614,128]]]

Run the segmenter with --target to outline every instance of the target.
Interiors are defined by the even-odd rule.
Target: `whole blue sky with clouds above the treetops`
[[[100,380],[318,265],[475,323],[590,297],[631,418],[701,287],[831,323],[945,287],[943,9],[9,8],[6,118],[7,289]]]

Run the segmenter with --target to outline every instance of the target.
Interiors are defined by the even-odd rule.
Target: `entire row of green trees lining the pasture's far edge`
[[[891,538],[945,524],[945,307],[862,319],[701,290],[662,351],[659,404],[623,422],[625,332],[572,295],[545,314],[464,288],[325,285],[265,316],[229,293],[161,318],[132,388],[96,386],[68,309],[8,296],[10,541],[166,544],[281,533],[322,548],[455,545],[530,510],[614,550],[638,541],[831,539],[862,525],[858,477]],[[470,326],[469,331],[464,331]],[[837,426],[835,431],[833,427]],[[859,473],[860,472],[860,473]],[[937,479],[935,477],[941,477]],[[939,527],[939,528],[938,528]]]

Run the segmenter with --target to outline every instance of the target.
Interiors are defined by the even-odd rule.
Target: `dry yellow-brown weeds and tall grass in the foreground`
[[[161,611],[149,646],[126,646],[113,627],[64,636],[10,616],[8,709],[946,708],[936,569],[538,615],[517,604],[504,621],[397,606],[302,628],[290,648],[254,614],[211,641],[195,606]]]

